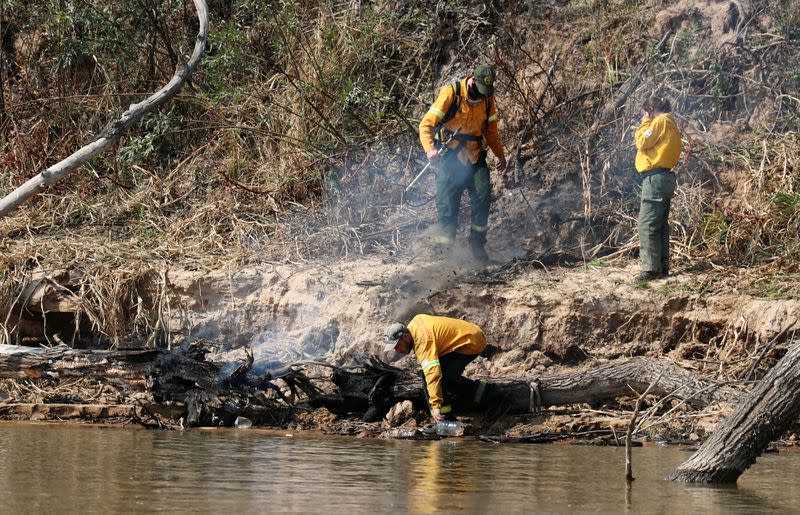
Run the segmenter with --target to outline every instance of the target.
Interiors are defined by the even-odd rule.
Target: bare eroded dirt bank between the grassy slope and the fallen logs
[[[670,355],[707,362],[788,339],[800,302],[757,298],[683,272],[649,285],[637,264],[542,269],[523,259],[364,259],[261,265],[232,274],[169,274],[173,338],[209,338],[259,354],[344,364],[380,349],[384,326],[418,312],[472,320],[495,348],[480,368],[526,377],[553,365]],[[732,279],[731,282],[735,282]],[[277,357],[277,356],[273,356]]]

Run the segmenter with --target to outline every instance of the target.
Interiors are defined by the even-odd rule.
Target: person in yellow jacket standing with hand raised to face
[[[642,273],[635,279],[650,281],[669,275],[669,209],[675,194],[672,168],[678,164],[682,144],[667,100],[652,96],[642,108],[642,122],[636,129],[636,170],[642,176],[638,223]]]

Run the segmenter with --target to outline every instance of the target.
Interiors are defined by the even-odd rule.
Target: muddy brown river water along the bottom
[[[734,487],[662,480],[689,454],[360,440],[255,430],[0,425],[3,513],[771,513],[800,510],[800,453]]]

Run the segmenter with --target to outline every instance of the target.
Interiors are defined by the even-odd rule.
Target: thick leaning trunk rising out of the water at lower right
[[[685,483],[735,483],[769,444],[797,422],[800,411],[800,344],[767,373],[694,455],[667,479]]]

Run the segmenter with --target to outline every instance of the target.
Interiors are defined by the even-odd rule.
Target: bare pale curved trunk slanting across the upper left
[[[114,144],[131,126],[139,122],[147,113],[155,110],[161,104],[175,96],[183,84],[197,68],[200,59],[205,53],[208,41],[208,7],[205,0],[194,0],[199,21],[199,31],[195,41],[194,51],[188,63],[180,62],[176,67],[172,79],[160,90],[138,104],[131,105],[122,113],[118,120],[109,122],[100,136],[88,145],[78,149],[66,159],[54,164],[44,172],[29,179],[25,184],[0,199],[0,216],[5,216],[13,211],[28,198],[89,161],[92,157]]]

